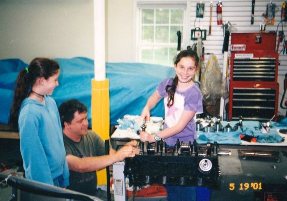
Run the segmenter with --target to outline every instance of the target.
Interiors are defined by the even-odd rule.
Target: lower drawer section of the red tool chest
[[[278,88],[278,84],[231,84],[229,118],[263,121],[277,117]]]

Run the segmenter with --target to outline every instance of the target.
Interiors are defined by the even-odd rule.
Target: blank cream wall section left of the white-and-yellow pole
[[[0,59],[94,56],[92,0],[0,1]]]

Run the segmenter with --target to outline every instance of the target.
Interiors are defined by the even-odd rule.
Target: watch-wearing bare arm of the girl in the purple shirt
[[[171,136],[174,136],[178,133],[180,133],[188,124],[188,122],[191,121],[191,119],[195,115],[195,111],[186,111],[184,110],[178,123],[170,128],[164,129],[163,131],[157,133],[157,134],[148,134],[147,132],[140,132],[140,140],[145,142],[155,142],[155,135],[159,136],[161,139],[166,139]]]

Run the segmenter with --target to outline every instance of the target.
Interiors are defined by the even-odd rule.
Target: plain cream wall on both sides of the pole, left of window
[[[0,59],[94,58],[93,0],[1,0]],[[132,0],[106,1],[106,61],[132,62]]]

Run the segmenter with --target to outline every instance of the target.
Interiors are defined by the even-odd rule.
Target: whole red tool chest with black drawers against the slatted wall
[[[278,110],[276,33],[231,35],[230,120],[265,121]]]

